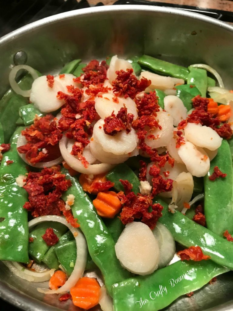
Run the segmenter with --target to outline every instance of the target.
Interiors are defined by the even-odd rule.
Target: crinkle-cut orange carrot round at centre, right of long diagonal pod
[[[114,191],[99,192],[93,205],[98,215],[105,218],[113,218],[121,210],[121,201]]]

